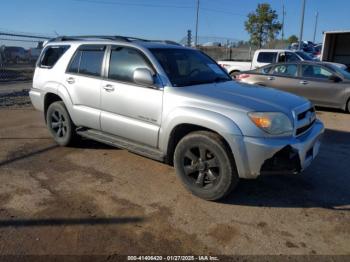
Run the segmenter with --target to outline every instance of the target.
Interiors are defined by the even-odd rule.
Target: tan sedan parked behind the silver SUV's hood
[[[304,96],[315,105],[350,112],[350,73],[326,62],[278,63],[237,76],[237,81]]]

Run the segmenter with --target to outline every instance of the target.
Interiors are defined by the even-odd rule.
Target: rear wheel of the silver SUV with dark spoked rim
[[[69,146],[76,138],[75,125],[62,101],[52,103],[46,112],[46,125],[60,146]]]

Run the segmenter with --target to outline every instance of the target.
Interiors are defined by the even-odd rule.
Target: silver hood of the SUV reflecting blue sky
[[[238,111],[284,112],[287,115],[309,101],[287,92],[228,81],[179,88],[193,106],[228,107]],[[200,106],[200,107],[202,107]]]

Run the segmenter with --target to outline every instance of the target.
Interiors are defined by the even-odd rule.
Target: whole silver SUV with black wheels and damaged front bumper
[[[239,178],[301,172],[324,130],[308,100],[236,83],[204,53],[167,41],[53,39],[30,97],[59,145],[85,137],[169,163],[207,200]]]

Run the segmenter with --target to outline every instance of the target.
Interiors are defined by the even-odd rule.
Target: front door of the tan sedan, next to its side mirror
[[[321,65],[301,65],[300,92],[317,105],[337,107],[342,103],[343,85],[329,77],[334,73]]]

